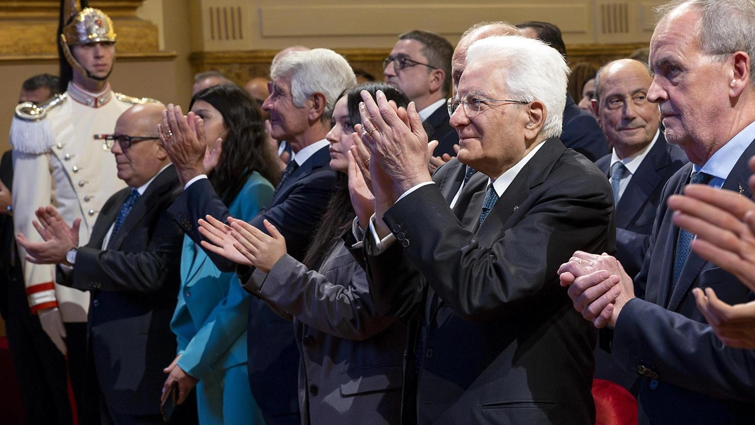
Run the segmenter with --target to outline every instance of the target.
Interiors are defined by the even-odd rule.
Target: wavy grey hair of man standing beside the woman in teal
[[[304,102],[315,93],[325,95],[322,120],[328,123],[338,95],[356,85],[356,76],[347,60],[329,48],[285,54],[273,63],[270,78],[291,79],[291,98],[296,107],[303,107]]]

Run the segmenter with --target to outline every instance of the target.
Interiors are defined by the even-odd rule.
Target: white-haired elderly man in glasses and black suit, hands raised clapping
[[[605,175],[558,139],[568,73],[538,40],[470,46],[448,112],[459,161],[479,172],[453,209],[424,167],[414,105],[362,96],[356,131],[371,150],[376,211],[365,237],[371,293],[387,314],[419,324],[406,419],[595,421],[596,331],[572,311],[556,270],[575,247],[614,249],[613,200]]]

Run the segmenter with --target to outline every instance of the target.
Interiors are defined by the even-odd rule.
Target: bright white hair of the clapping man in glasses
[[[467,51],[467,67],[483,60],[499,63],[495,68],[503,76],[510,100],[545,105],[541,135],[561,135],[570,70],[555,48],[523,36],[488,37],[474,42]]]

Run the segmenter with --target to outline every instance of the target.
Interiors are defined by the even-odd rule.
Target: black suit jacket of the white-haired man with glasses
[[[486,184],[454,211],[437,185],[408,194],[384,216],[396,244],[368,256],[378,308],[424,322],[418,423],[593,423],[596,332],[556,270],[613,249],[608,181],[553,138],[478,225]]]

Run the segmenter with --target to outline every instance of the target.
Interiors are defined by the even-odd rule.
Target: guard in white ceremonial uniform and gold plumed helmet
[[[80,220],[79,240],[85,244],[103,203],[125,187],[116,176],[112,154],[94,140],[94,135],[112,132],[121,113],[142,100],[112,92],[108,83],[116,42],[110,18],[98,9],[79,11],[72,0],[66,0],[64,6],[60,45],[72,67],[71,81],[63,95],[45,104],[20,104],[11,124],[16,176],[12,190],[14,228],[29,240],[41,241],[32,228],[34,212],[39,206],[53,205],[66,222]],[[20,258],[25,257],[26,253],[20,251]],[[23,278],[32,313],[39,316],[60,353],[67,354],[74,395],[68,398],[70,408],[60,402],[61,398],[66,400],[65,368],[40,365],[48,375],[48,382],[41,385],[53,387],[57,417],[66,423],[78,410],[79,423],[97,421],[97,403],[91,399],[97,389],[85,384],[91,377],[87,378],[82,369],[88,293],[57,285],[54,265],[24,261]],[[56,358],[62,356],[45,352],[41,357],[47,358],[45,363],[57,361],[60,365]],[[91,420],[87,410],[93,415]]]

